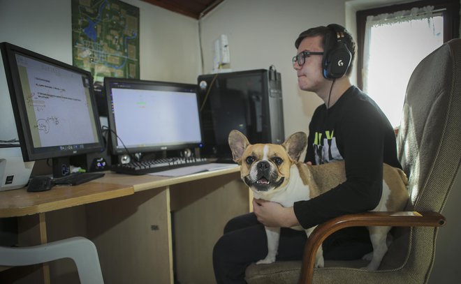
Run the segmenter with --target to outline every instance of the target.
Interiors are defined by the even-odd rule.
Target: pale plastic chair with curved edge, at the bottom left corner
[[[82,284],[103,284],[96,246],[89,239],[73,237],[26,248],[0,246],[0,266],[17,267],[71,258]]]

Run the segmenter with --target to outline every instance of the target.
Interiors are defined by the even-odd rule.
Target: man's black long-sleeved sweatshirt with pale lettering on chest
[[[344,214],[374,209],[381,198],[383,163],[400,167],[395,133],[378,105],[350,87],[328,110],[320,105],[309,124],[305,161],[344,160],[346,181],[312,200],[294,204],[304,228]]]

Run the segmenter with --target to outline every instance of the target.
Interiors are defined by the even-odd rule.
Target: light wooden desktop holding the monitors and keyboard
[[[233,167],[189,174],[183,177],[159,177],[149,174],[132,176],[106,172],[104,177],[79,186],[54,186],[51,190],[41,193],[29,193],[26,188],[7,190],[0,193],[0,218],[64,209],[132,195],[141,190],[181,184],[239,171],[240,167]]]

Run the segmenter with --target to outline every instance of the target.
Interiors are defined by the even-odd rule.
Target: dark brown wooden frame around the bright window
[[[425,6],[434,6],[434,10],[444,9],[441,12],[444,16],[444,43],[453,38],[460,37],[460,0],[423,0],[357,11],[357,85],[360,89],[363,89],[363,45],[367,17]]]

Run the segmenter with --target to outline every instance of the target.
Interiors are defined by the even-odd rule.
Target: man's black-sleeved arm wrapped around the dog
[[[302,227],[330,218],[374,209],[382,190],[383,124],[365,102],[346,112],[335,136],[342,149],[346,181],[312,200],[295,202],[293,211]]]

